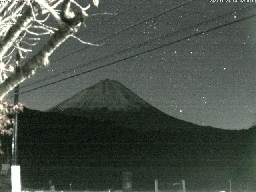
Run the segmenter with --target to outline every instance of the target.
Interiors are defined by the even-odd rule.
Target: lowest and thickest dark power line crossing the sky
[[[174,43],[177,43],[177,42],[186,40],[186,39],[188,39],[188,38],[192,38],[192,37],[195,37],[195,36],[199,36],[199,35],[204,34],[204,33],[206,33],[206,32],[210,32],[210,31],[216,30],[216,29],[218,29],[218,28],[222,28],[222,27],[225,27],[225,26],[234,24],[234,23],[236,23],[236,22],[240,22],[240,21],[247,20],[247,19],[254,18],[254,17],[256,17],[256,14],[251,15],[251,16],[247,16],[247,17],[242,18],[242,19],[239,19],[239,20],[235,20],[235,21],[233,21],[233,22],[230,22],[230,23],[227,23],[227,24],[224,24],[224,25],[221,25],[221,26],[214,27],[214,28],[209,29],[209,30],[205,30],[205,31],[203,31],[203,32],[199,32],[199,33],[194,34],[194,35],[187,36],[187,37],[182,38],[182,39],[180,39],[180,40],[176,40],[176,41],[174,41],[174,42],[170,42],[170,43],[168,43],[168,44],[164,44],[164,45],[162,45],[162,46],[159,46],[159,47],[156,47],[156,48],[152,48],[152,49],[150,49],[150,50],[147,50],[147,51],[144,51],[144,52],[141,52],[141,53],[138,53],[138,54],[135,54],[135,55],[132,55],[132,56],[129,56],[129,57],[126,57],[126,58],[123,58],[123,59],[114,61],[114,62],[111,62],[111,63],[109,63],[109,64],[106,64],[106,65],[103,65],[103,66],[100,66],[100,67],[96,67],[96,68],[91,69],[91,70],[87,70],[87,71],[82,72],[82,73],[80,73],[80,74],[76,74],[76,75],[73,75],[73,76],[70,76],[70,77],[67,77],[67,78],[64,78],[64,79],[55,81],[55,82],[51,82],[51,83],[45,84],[45,85],[43,85],[43,86],[39,86],[39,87],[37,87],[37,88],[33,88],[33,89],[30,89],[30,90],[21,92],[20,94],[24,94],[24,93],[27,93],[27,92],[30,92],[30,91],[33,91],[33,90],[36,90],[36,89],[39,89],[39,88],[43,88],[43,87],[46,87],[46,86],[49,86],[49,85],[58,83],[58,82],[62,82],[62,81],[64,81],[64,80],[67,80],[67,79],[70,79],[70,78],[73,78],[73,77],[76,77],[76,76],[80,76],[80,75],[82,75],[82,74],[86,74],[86,73],[88,73],[88,72],[92,72],[92,71],[98,70],[98,69],[100,69],[100,68],[104,68],[104,67],[106,67],[106,66],[110,66],[110,65],[116,64],[116,63],[118,63],[118,62],[121,62],[121,61],[124,61],[124,60],[128,60],[128,59],[130,59],[130,58],[134,58],[134,57],[136,57],[136,56],[140,56],[140,55],[142,55],[142,54],[145,54],[145,53],[148,53],[148,52],[152,52],[152,51],[157,50],[157,49],[160,49],[160,48],[164,48],[164,47],[166,47],[166,46],[170,46],[170,45],[172,45],[172,44],[174,44]],[[11,97],[13,97],[13,96],[11,96]],[[10,97],[10,98],[11,98],[11,97]]]

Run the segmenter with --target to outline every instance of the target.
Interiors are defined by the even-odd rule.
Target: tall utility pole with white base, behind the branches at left
[[[16,66],[15,73],[20,71],[20,54],[17,51],[16,54]],[[14,88],[14,105],[19,102],[19,85]],[[17,163],[17,132],[18,132],[18,110],[14,110],[14,126],[12,132],[12,167],[11,167],[11,182],[12,182],[12,192],[21,191],[20,183],[20,166]]]

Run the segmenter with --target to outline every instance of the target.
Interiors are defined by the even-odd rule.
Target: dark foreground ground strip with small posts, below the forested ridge
[[[246,169],[246,168],[244,168]],[[248,168],[249,169],[249,168]],[[154,181],[158,189],[166,192],[182,190],[182,179],[190,192],[256,191],[256,178],[250,174],[235,174],[239,170],[229,167],[83,167],[83,166],[36,166],[21,167],[24,189],[49,189],[49,180],[58,191],[117,191],[122,189],[122,172],[133,172],[134,191],[153,191]],[[243,170],[244,172],[244,170]],[[240,173],[240,172],[239,172]],[[233,177],[232,177],[233,175]],[[236,176],[236,177],[235,177]],[[180,183],[174,185],[174,183]]]

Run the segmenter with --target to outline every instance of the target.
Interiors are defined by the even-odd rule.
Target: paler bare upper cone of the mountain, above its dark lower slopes
[[[148,107],[152,106],[120,82],[105,79],[64,100],[51,108],[50,111],[66,110],[68,108],[130,110]]]

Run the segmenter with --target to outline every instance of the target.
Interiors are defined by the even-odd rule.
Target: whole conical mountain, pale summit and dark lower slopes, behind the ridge
[[[48,111],[91,120],[110,120],[136,130],[205,128],[165,114],[120,82],[110,79],[101,80]]]

